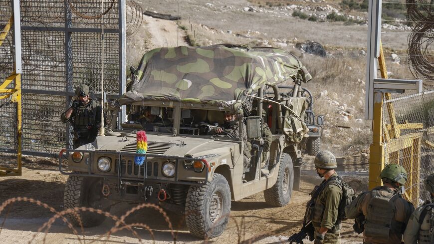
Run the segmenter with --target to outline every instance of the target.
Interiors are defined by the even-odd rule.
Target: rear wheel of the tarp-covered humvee
[[[294,168],[291,156],[282,153],[280,156],[277,181],[270,189],[264,191],[265,203],[273,207],[283,207],[289,203],[294,187]]]

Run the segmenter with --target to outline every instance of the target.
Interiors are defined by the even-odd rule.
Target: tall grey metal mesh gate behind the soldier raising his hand
[[[91,97],[101,103],[102,32],[104,95],[110,99],[125,92],[125,0],[20,0],[18,5],[22,151],[52,157],[60,149],[72,147],[72,128],[60,121],[60,115],[69,107],[74,88],[89,85]],[[11,16],[10,6],[11,0],[0,0],[0,29],[4,19]],[[6,37],[9,41],[6,47],[12,48],[9,38],[10,35]],[[0,46],[2,57],[9,52]],[[6,55],[6,59],[0,58],[0,65],[0,77],[4,79],[4,74],[11,73],[13,60]],[[3,103],[1,100],[0,104]],[[7,118],[1,119],[2,152],[16,152],[14,106],[8,104],[0,109],[0,116]],[[124,117],[121,114],[120,118]]]

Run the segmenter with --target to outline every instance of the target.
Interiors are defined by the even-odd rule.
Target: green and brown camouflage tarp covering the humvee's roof
[[[157,48],[143,55],[131,90],[120,104],[144,100],[211,103],[237,112],[264,84],[275,85],[312,77],[291,53],[267,47]]]

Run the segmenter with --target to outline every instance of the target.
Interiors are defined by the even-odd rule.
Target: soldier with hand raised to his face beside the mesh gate
[[[63,123],[69,121],[74,129],[74,149],[95,141],[101,121],[101,105],[89,97],[89,87],[79,85],[75,94],[78,99],[72,101],[71,107],[60,117]]]

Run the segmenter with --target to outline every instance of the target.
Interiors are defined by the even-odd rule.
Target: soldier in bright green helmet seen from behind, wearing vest
[[[388,164],[380,177],[384,186],[359,195],[345,213],[348,219],[364,216],[364,244],[401,244],[414,211],[413,205],[401,195],[407,172],[401,165]]]

